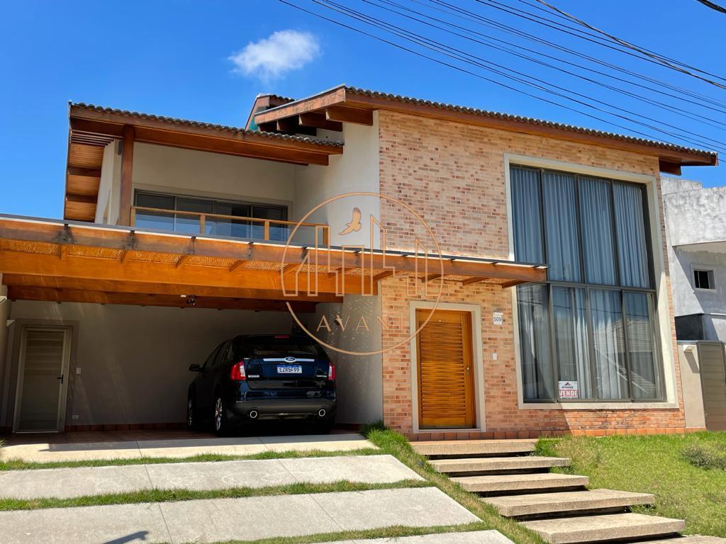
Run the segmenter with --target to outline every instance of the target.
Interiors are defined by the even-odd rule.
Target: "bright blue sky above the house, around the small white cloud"
[[[291,1],[325,12],[310,0]],[[412,21],[362,1],[338,1],[414,28]],[[541,33],[562,46],[726,102],[724,89],[538,27],[475,0],[449,1],[479,15],[516,25],[526,32]],[[502,1],[531,10],[518,0]],[[696,0],[552,0],[552,3],[621,38],[726,76],[726,55],[723,54],[726,15],[707,9]],[[409,5],[415,7],[415,4]],[[62,2],[30,0],[5,1],[0,9],[0,47],[3,51],[0,55],[0,99],[4,104],[0,123],[1,213],[62,215],[68,100],[242,125],[254,97],[260,92],[301,97],[347,83],[624,132],[621,128],[412,56],[298,12],[276,0],[76,1],[72,7]],[[343,16],[333,12],[326,15],[343,20]],[[363,27],[360,23],[353,24]],[[470,22],[461,24],[476,28]],[[422,25],[415,28],[424,30],[436,40],[465,48],[471,54],[512,70],[587,96],[596,96],[603,102],[612,102],[621,108],[686,128],[702,137],[726,141],[723,128],[645,107],[602,88],[584,86],[577,78],[552,73],[544,67],[533,67],[521,59],[447,35],[442,30]],[[251,75],[234,70],[234,62],[229,57],[243,51],[248,44],[269,38],[281,30],[309,33],[317,44],[317,52],[311,52],[311,59],[292,60],[300,67],[277,73],[266,70],[265,77],[261,77],[261,70]],[[383,36],[380,31],[378,33]],[[508,36],[507,39],[517,38]],[[524,44],[523,41],[519,43]],[[539,49],[547,51],[543,47]],[[726,120],[726,114],[687,107],[717,123]],[[726,124],[722,126],[726,127]],[[661,139],[677,141],[666,136]],[[706,186],[726,185],[725,167],[688,168],[684,170],[684,177],[701,180]]]

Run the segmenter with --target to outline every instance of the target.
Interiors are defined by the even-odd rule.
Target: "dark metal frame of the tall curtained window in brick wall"
[[[539,183],[539,217],[540,222],[542,223],[540,226],[540,231],[542,232],[542,240],[540,243],[542,244],[542,255],[544,263],[547,263],[547,229],[546,229],[546,221],[545,221],[545,210],[544,210],[544,173],[550,172],[550,173],[564,173],[568,174],[570,176],[574,177],[574,191],[575,191],[575,208],[576,208],[576,222],[577,222],[577,231],[576,235],[578,237],[578,246],[579,246],[579,265],[580,265],[580,277],[582,278],[582,282],[574,282],[574,281],[560,281],[560,280],[550,280],[547,279],[546,282],[542,283],[541,285],[544,285],[547,287],[547,297],[548,297],[548,303],[549,303],[549,320],[550,320],[550,360],[552,361],[552,391],[554,392],[554,396],[552,398],[542,398],[542,399],[531,399],[531,398],[525,398],[523,396],[523,381],[521,376],[521,371],[518,374],[518,384],[517,387],[521,390],[521,402],[525,404],[539,404],[539,405],[552,405],[552,404],[603,404],[603,403],[617,403],[621,405],[629,405],[632,403],[668,403],[669,402],[669,393],[668,390],[666,390],[666,379],[665,379],[665,358],[663,354],[661,353],[661,350],[654,350],[653,355],[655,356],[655,364],[656,364],[656,371],[658,373],[658,384],[660,386],[661,390],[661,397],[657,398],[635,398],[632,395],[633,386],[632,386],[632,363],[631,363],[631,355],[629,352],[629,345],[628,345],[628,339],[627,339],[627,312],[626,312],[626,305],[625,305],[625,299],[627,292],[645,292],[648,294],[651,294],[653,297],[653,315],[650,316],[650,322],[652,323],[651,327],[651,341],[653,342],[654,347],[659,347],[661,345],[660,339],[661,339],[661,331],[660,331],[660,323],[658,319],[658,289],[656,287],[656,275],[655,275],[655,260],[654,260],[654,254],[653,254],[653,233],[651,231],[650,227],[650,210],[648,206],[648,191],[647,188],[640,183],[637,183],[636,181],[628,181],[627,179],[621,179],[621,178],[612,178],[612,177],[606,177],[603,175],[599,175],[597,173],[582,173],[578,172],[576,170],[563,170],[558,168],[548,168],[548,167],[542,167],[542,166],[534,166],[534,165],[528,165],[528,164],[522,164],[521,162],[517,162],[515,160],[513,161],[505,161],[505,168],[507,169],[507,176],[506,177],[506,183],[507,183],[507,192],[511,193],[512,191],[512,179],[511,179],[511,171],[513,168],[521,168],[526,169],[530,171],[536,171],[538,173],[538,183]],[[609,284],[594,284],[594,283],[588,283],[587,282],[587,276],[585,271],[585,262],[584,262],[584,241],[582,239],[582,221],[581,221],[581,203],[580,203],[580,181],[581,178],[595,178],[602,181],[607,181],[609,184],[609,196],[610,196],[610,212],[611,212],[611,230],[612,230],[612,236],[613,236],[613,261],[614,261],[614,267],[615,267],[615,279],[616,284],[615,285],[609,285]],[[645,251],[647,255],[647,266],[648,266],[648,281],[650,283],[650,287],[629,287],[629,286],[623,286],[621,285],[621,270],[620,270],[620,263],[619,263],[619,239],[617,236],[617,225],[616,225],[616,210],[615,210],[615,194],[614,194],[614,185],[616,183],[620,184],[632,184],[639,187],[640,191],[642,192],[642,198],[641,203],[643,207],[643,226],[645,230]],[[512,217],[510,218],[509,225],[510,230],[513,226],[513,214],[514,210],[513,208],[510,208],[510,213]],[[510,250],[512,252],[515,251],[515,241],[514,239],[511,240],[511,247]],[[693,277],[693,276],[692,276]],[[695,278],[694,278],[695,279]],[[586,306],[586,321],[587,321],[587,340],[588,340],[588,350],[589,350],[589,366],[590,366],[590,389],[592,390],[592,398],[562,398],[559,395],[559,368],[558,368],[558,361],[557,361],[557,346],[556,346],[556,338],[555,338],[555,318],[554,318],[554,308],[553,308],[553,290],[555,287],[566,287],[566,288],[576,288],[576,289],[583,289],[585,292],[585,306]],[[622,334],[623,334],[623,349],[624,349],[624,357],[625,357],[625,363],[626,363],[626,371],[627,371],[627,398],[619,398],[619,399],[604,399],[604,398],[598,398],[597,397],[597,381],[596,381],[596,368],[595,368],[595,343],[594,343],[594,334],[592,331],[592,313],[590,308],[590,291],[592,289],[608,289],[617,291],[620,293],[620,310],[621,310],[621,323],[622,323]],[[706,290],[706,289],[703,289]],[[710,289],[708,289],[710,291]],[[517,294],[516,289],[513,289],[513,301],[514,305],[517,305]],[[515,323],[515,326],[517,327],[515,329],[515,337],[517,337],[518,341],[518,320],[517,323]],[[521,367],[521,355],[518,357],[518,368]],[[657,390],[657,388],[656,388]]]

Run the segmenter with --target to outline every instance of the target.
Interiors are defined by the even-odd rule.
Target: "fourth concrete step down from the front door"
[[[625,508],[636,504],[653,504],[655,497],[648,493],[596,489],[592,491],[486,497],[481,500],[496,507],[502,516],[518,517],[537,514],[577,513],[604,508]]]

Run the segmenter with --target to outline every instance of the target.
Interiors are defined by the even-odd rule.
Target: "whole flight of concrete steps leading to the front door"
[[[655,544],[726,543],[715,537],[678,537],[682,519],[634,514],[631,506],[652,504],[653,495],[607,489],[587,490],[588,479],[553,474],[565,458],[532,455],[537,440],[417,442],[433,467],[465,490],[521,522],[552,544],[648,541]],[[677,540],[675,540],[677,538]],[[673,540],[673,543],[670,541]]]

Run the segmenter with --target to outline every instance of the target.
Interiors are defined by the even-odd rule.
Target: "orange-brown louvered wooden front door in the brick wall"
[[[431,310],[417,310],[417,328]],[[421,429],[476,424],[471,314],[436,310],[417,337],[418,421]]]

